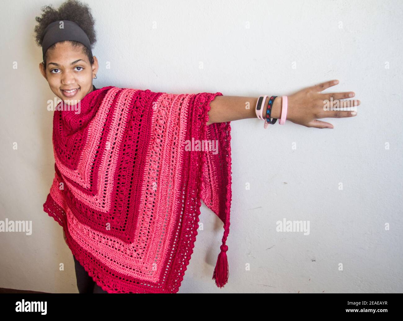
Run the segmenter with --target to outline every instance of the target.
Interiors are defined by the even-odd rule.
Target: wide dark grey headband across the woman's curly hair
[[[62,24],[60,22],[63,21]],[[70,20],[58,20],[52,22],[44,31],[44,39],[42,40],[42,56],[45,61],[46,50],[56,42],[64,40],[78,41],[89,49],[92,56],[91,44],[87,34],[77,23]]]

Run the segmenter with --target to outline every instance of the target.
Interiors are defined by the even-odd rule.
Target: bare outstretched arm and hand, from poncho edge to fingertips
[[[327,117],[353,117],[357,115],[355,106],[358,106],[360,101],[342,100],[354,97],[354,92],[320,93],[338,83],[338,80],[326,81],[318,85],[304,88],[291,96],[287,96],[287,120],[306,127],[333,128],[332,124],[318,121],[317,119]],[[208,113],[209,121],[207,125],[239,119],[256,118],[255,106],[258,98],[259,97],[216,96],[214,100],[210,102],[210,111]],[[280,119],[281,100],[281,96],[278,96],[274,100],[271,110],[272,118]],[[266,116],[267,105],[268,99],[266,99],[264,104],[263,117]],[[347,110],[342,110],[341,108]]]

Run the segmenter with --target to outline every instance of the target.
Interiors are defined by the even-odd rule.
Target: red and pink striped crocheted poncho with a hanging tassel
[[[44,211],[108,293],[176,293],[199,227],[201,199],[224,223],[213,279],[229,272],[230,122],[206,125],[220,92],[104,87],[54,111],[55,176]]]

